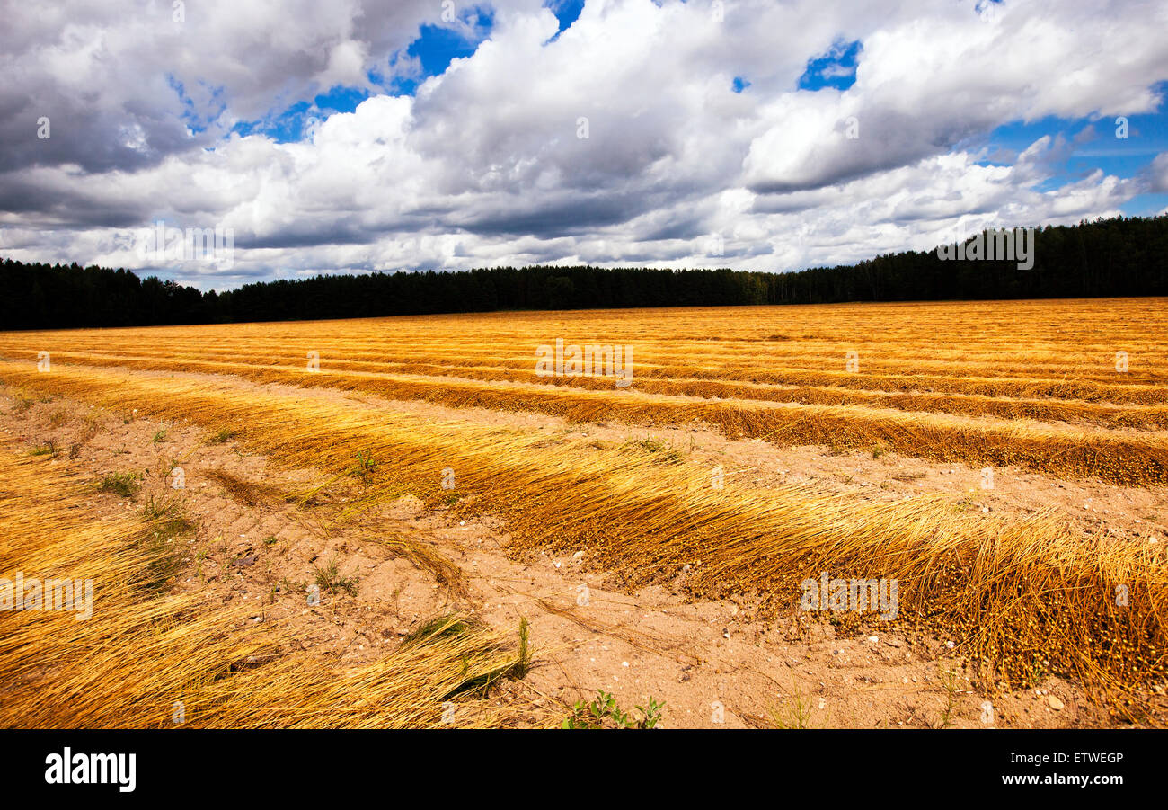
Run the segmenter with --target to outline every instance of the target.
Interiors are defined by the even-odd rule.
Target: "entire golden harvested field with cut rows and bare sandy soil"
[[[0,333],[0,724],[1163,725],[1166,305]]]

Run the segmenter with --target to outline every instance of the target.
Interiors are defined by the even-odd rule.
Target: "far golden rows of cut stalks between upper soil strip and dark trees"
[[[1168,346],[1155,299],[507,313],[166,332],[0,335],[14,359],[227,374],[576,422],[690,424],[730,437],[1168,483]],[[944,339],[940,338],[944,335]],[[540,379],[565,337],[634,347],[630,389]],[[774,338],[781,338],[777,340]],[[306,373],[305,353],[321,356]],[[860,372],[844,369],[856,351]],[[1128,373],[1115,353],[1128,353]],[[234,428],[232,428],[234,429]],[[218,431],[218,432],[216,432]],[[223,435],[213,425],[211,436]]]

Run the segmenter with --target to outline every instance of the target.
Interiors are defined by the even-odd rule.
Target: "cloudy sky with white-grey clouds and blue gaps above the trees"
[[[0,256],[783,271],[1168,210],[1162,0],[0,0]],[[173,258],[145,229],[224,228]],[[227,233],[224,230],[224,233]]]

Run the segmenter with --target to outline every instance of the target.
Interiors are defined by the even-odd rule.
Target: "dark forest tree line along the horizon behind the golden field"
[[[495,310],[1168,296],[1168,216],[1036,229],[1034,266],[885,254],[798,272],[527,266],[329,275],[201,292],[155,276],[0,262],[0,328],[160,326]]]

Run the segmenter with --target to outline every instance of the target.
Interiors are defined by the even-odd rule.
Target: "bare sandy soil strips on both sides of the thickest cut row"
[[[1096,482],[1054,480],[1014,469],[994,471],[982,489],[980,470],[885,454],[832,455],[826,448],[780,449],[757,439],[728,441],[690,429],[570,424],[528,414],[449,409],[387,402],[368,395],[287,389],[273,394],[343,397],[442,420],[523,425],[557,435],[625,441],[652,435],[690,459],[722,465],[753,485],[814,482],[860,498],[897,499],[951,493],[983,511],[1028,513],[1057,508],[1084,531],[1104,526],[1117,540],[1164,542],[1168,492]],[[536,552],[508,555],[508,538],[489,519],[457,520],[445,510],[402,498],[356,521],[335,517],[353,497],[327,486],[315,470],[286,470],[234,439],[208,443],[197,427],[124,416],[62,399],[21,404],[0,387],[0,435],[8,451],[30,452],[53,442],[53,464],[93,480],[139,471],[133,500],[97,493],[100,511],[137,510],[150,497],[181,497],[197,522],[178,587],[234,603],[255,604],[249,621],[287,621],[300,643],[322,659],[359,664],[394,649],[411,628],[451,609],[517,630],[530,622],[535,669],[508,681],[499,701],[523,700],[566,716],[597,690],[632,709],[649,697],[663,701],[661,727],[1085,727],[1112,726],[1107,712],[1077,686],[1048,678],[1036,688],[995,693],[971,681],[972,667],[953,639],[901,635],[895,624],[869,635],[837,635],[837,625],[806,615],[759,621],[745,600],[688,602],[666,587],[637,593],[606,589],[603,574],[585,572],[580,556]],[[178,463],[183,489],[169,473]],[[292,499],[296,501],[296,499]],[[410,561],[401,539],[437,552],[463,572],[465,589],[436,581]],[[318,568],[335,562],[355,580],[308,604]]]

